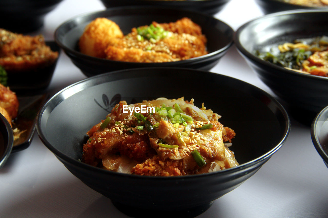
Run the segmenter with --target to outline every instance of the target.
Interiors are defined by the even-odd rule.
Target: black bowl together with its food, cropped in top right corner
[[[314,9],[328,7],[326,0],[255,0],[265,14],[283,10]]]

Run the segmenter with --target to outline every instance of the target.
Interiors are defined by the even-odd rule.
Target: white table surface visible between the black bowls
[[[98,0],[64,0],[45,18],[52,40],[64,21],[102,10]],[[235,30],[263,15],[254,0],[231,0],[215,17]],[[31,34],[35,34],[31,33]],[[269,92],[232,46],[211,70]],[[49,87],[55,93],[86,78],[62,52]],[[310,127],[291,118],[285,144],[251,178],[215,200],[199,217],[328,217],[328,169],[315,150]],[[0,170],[0,217],[127,217],[111,200],[83,184],[43,145],[37,134],[29,148],[11,154]]]

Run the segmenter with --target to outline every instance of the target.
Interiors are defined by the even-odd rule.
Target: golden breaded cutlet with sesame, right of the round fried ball
[[[153,22],[152,25],[168,31],[168,36],[159,40],[140,39],[138,29],[133,28],[123,39],[110,43],[105,50],[106,58],[114,61],[149,63],[187,60],[207,54],[206,38],[201,34],[201,28],[189,18],[169,24]]]

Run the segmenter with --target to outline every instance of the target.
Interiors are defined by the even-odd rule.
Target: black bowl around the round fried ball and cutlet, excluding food
[[[209,54],[184,61],[166,63],[132,63],[94,58],[79,52],[77,43],[84,28],[97,17],[107,17],[121,28],[124,34],[132,27],[149,25],[151,22],[174,22],[183,17],[189,17],[202,27],[206,35]],[[153,7],[119,7],[80,15],[65,22],[55,31],[55,40],[72,62],[86,76],[93,76],[114,70],[139,67],[185,67],[209,70],[217,64],[233,43],[233,29],[227,24],[211,16],[179,9],[164,9]]]

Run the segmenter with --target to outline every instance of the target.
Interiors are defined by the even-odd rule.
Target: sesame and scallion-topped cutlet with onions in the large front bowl
[[[236,136],[234,130],[218,122],[220,116],[212,110],[197,108],[192,102],[183,98],[143,101],[131,109],[135,112],[147,105],[157,111],[129,115],[123,109],[127,102],[120,101],[87,132],[90,138],[83,145],[82,162],[151,176],[191,175],[237,166],[234,153],[224,144]]]

